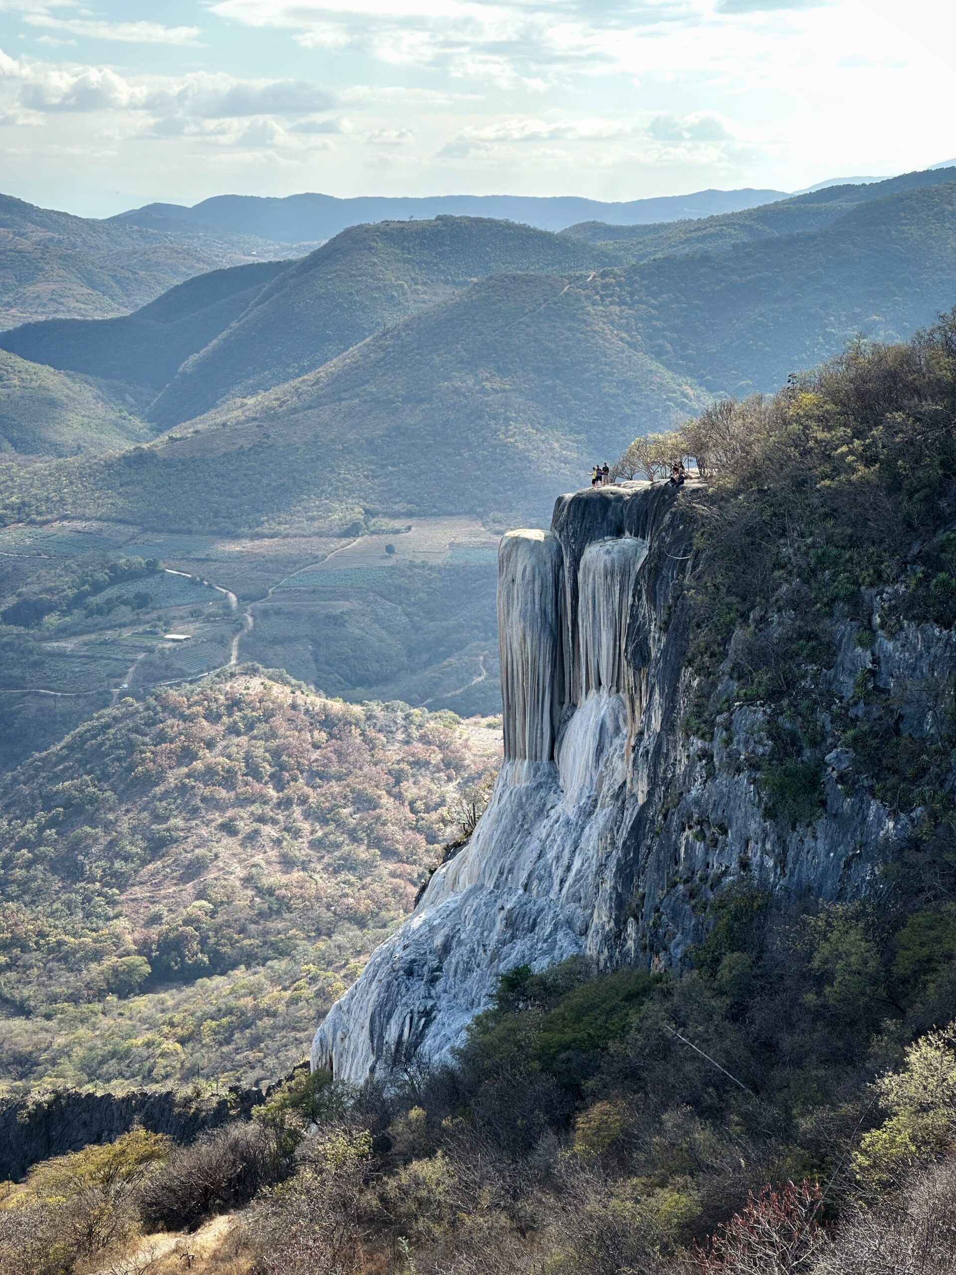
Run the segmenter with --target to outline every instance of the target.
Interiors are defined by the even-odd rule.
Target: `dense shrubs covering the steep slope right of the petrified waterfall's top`
[[[711,740],[721,727],[729,746],[734,709],[755,705],[769,751],[737,761],[771,817],[818,817],[831,755],[846,790],[919,812],[895,875],[924,871],[929,845],[937,864],[956,856],[952,671],[927,666],[928,738],[881,667],[905,622],[956,620],[955,421],[956,311],[908,346],[854,344],[772,398],[715,404],[668,439],[711,476],[686,493],[699,520],[688,728]]]

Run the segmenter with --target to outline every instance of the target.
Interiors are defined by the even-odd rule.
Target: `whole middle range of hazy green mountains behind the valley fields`
[[[956,297],[956,170],[591,235],[353,227],[126,317],[4,333],[20,358],[148,388],[150,430],[176,427],[145,451],[9,470],[5,504],[252,529],[334,521],[359,482],[376,510],[537,509],[711,395],[932,321]]]

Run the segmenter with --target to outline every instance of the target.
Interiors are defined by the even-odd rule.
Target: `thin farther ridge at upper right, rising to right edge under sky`
[[[800,231],[816,231],[837,221],[851,208],[872,203],[886,195],[938,186],[956,180],[956,168],[905,173],[872,185],[841,185],[821,187],[781,199],[775,204],[751,208],[720,217],[705,217],[693,222],[659,223],[655,226],[605,226],[602,222],[584,222],[571,226],[566,235],[589,244],[605,244],[626,249],[635,261],[653,256],[672,256],[681,252],[713,252],[772,238]]]

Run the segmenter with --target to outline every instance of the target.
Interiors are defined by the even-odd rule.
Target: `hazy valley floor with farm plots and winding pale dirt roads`
[[[133,556],[170,570],[99,589],[96,607],[82,602],[42,629],[0,627],[10,653],[0,688],[31,690],[33,723],[25,736],[13,729],[24,713],[0,696],[0,764],[10,760],[4,740],[15,760],[32,741],[57,738],[56,722],[75,724],[84,701],[70,700],[68,714],[66,701],[40,691],[87,695],[94,711],[117,695],[139,697],[228,664],[237,635],[238,663],[286,669],[330,695],[496,713],[497,544],[473,518],[379,524],[354,541],[164,534],[105,521],[5,528],[4,606],[43,572],[101,570]],[[219,589],[236,594],[235,608]],[[173,645],[166,632],[190,639]]]

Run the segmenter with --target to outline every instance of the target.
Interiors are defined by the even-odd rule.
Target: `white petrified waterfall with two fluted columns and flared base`
[[[649,620],[639,585],[665,499],[621,488],[562,497],[562,534],[503,537],[505,764],[491,803],[333,1007],[316,1033],[315,1066],[361,1081],[413,1057],[447,1057],[500,972],[598,955],[617,908],[609,864],[632,799],[630,657]],[[584,528],[566,516],[579,500]]]

